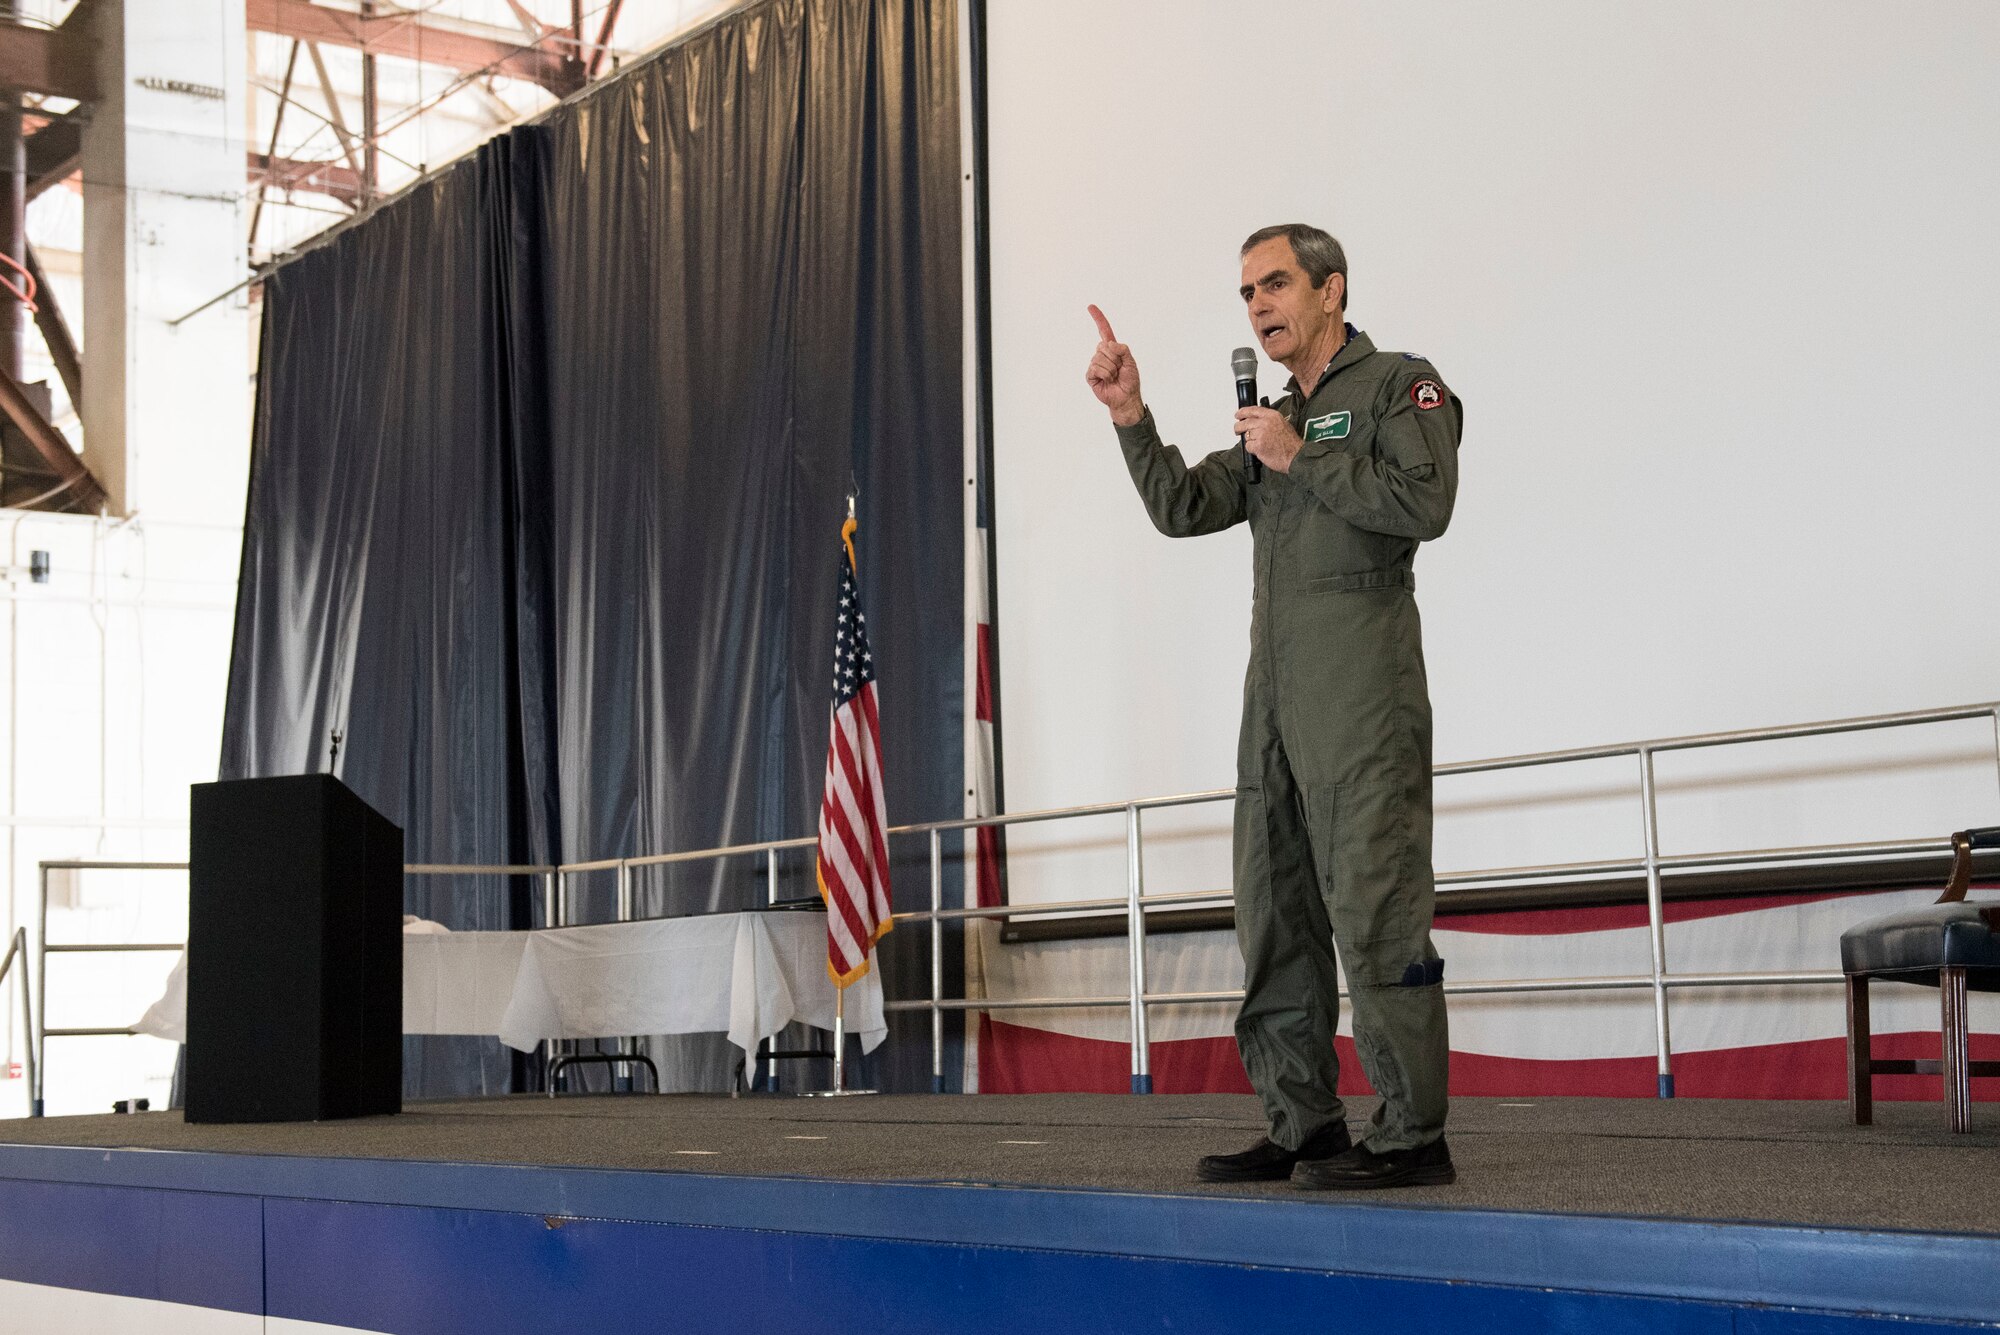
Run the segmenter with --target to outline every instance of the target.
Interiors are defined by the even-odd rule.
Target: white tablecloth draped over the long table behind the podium
[[[184,1041],[186,961],[134,1025]],[[882,981],[848,987],[846,1023],[874,1051],[888,1035]],[[744,1051],[794,1019],[834,1027],[826,915],[708,913],[546,931],[402,937],[402,1031],[542,1039],[728,1033]]]

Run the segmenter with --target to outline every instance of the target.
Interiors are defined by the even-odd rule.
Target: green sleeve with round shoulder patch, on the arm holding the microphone
[[[1424,382],[1440,394],[1436,408],[1418,408],[1412,398]],[[1464,406],[1424,362],[1390,376],[1382,394],[1374,454],[1340,450],[1338,442],[1304,446],[1292,460],[1292,482],[1354,528],[1428,542],[1452,520]]]

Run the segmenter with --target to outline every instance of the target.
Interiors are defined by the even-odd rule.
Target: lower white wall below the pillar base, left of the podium
[[[52,560],[30,584],[28,554]],[[36,935],[36,863],[184,861],[188,785],[216,777],[240,534],[192,522],[130,524],[0,512],[0,933]],[[186,939],[186,875],[84,871],[56,883],[50,941]],[[174,957],[54,955],[50,1023],[124,1027]],[[0,993],[0,1077],[24,1067],[18,983]],[[166,1105],[174,1047],[148,1037],[48,1041],[48,1111]],[[0,1117],[28,1111],[26,1079],[0,1079]]]

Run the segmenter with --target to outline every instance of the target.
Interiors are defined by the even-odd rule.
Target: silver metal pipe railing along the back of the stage
[[[1654,995],[1654,1047],[1658,1055],[1658,1093],[1672,1097],[1672,1027],[1668,1013],[1668,993],[1682,987],[1778,987],[1838,981],[1840,973],[1824,971],[1768,971],[1768,973],[1672,973],[1666,959],[1666,911],[1662,881],[1690,869],[1742,867],[1758,863],[1826,863],[1870,859],[1914,859],[1950,851],[1946,839],[1886,839],[1870,843],[1822,843],[1778,849],[1728,849],[1710,853],[1662,853],[1660,813],[1654,783],[1654,757],[1662,751],[1688,751],[1718,745],[1740,745],[1756,741],[1780,741],[1794,737],[1822,737],[1852,731],[1880,731],[1890,727],[1916,727],[1926,723],[1950,723],[1988,717],[1994,725],[1994,765],[2000,777],[2000,701],[1956,705],[1948,709],[1912,709],[1902,713],[1874,713],[1862,717],[1828,719],[1820,723],[1794,723],[1784,727],[1746,727],[1736,731],[1690,733],[1680,737],[1656,737],[1650,741],[1626,741],[1618,745],[1570,747],[1560,751],[1534,751],[1506,755],[1498,759],[1454,761],[1436,765],[1434,775],[1494,773],[1502,769],[1526,769],[1556,763],[1596,761],[1636,757],[1640,761],[1640,827],[1644,853],[1624,859],[1596,859],[1576,863],[1548,863],[1530,867],[1492,867],[1476,871],[1448,871],[1436,877],[1440,887],[1448,885],[1530,885],[1546,879],[1610,879],[1620,875],[1646,877],[1646,921],[1652,947],[1650,969],[1646,973],[1574,977],[1574,979],[1454,979],[1444,985],[1448,993],[1538,993],[1538,991],[1640,991]],[[1138,797],[1130,801],[1102,801],[1072,807],[1048,807],[1038,811],[1016,811],[1004,815],[968,815],[944,821],[920,821],[892,825],[890,837],[922,835],[930,843],[930,907],[896,913],[896,921],[930,923],[930,997],[922,1001],[890,1001],[886,1011],[928,1011],[932,1017],[932,1087],[944,1087],[944,1013],[946,1011],[998,1011],[998,1009],[1068,1009],[1124,1005],[1130,1009],[1132,1043],[1132,1089],[1144,1093],[1152,1089],[1152,1059],[1146,1009],[1152,1005],[1192,1005],[1236,1001],[1242,991],[1206,993],[1152,993],[1146,989],[1146,909],[1190,903],[1226,903],[1232,891],[1180,891],[1166,895],[1144,893],[1144,831],[1140,813],[1162,807],[1198,805],[1224,801],[1236,795],[1234,787],[1218,787],[1196,793],[1172,793],[1160,797]],[[1024,903],[990,907],[944,907],[944,849],[942,835],[948,831],[968,831],[1006,825],[1028,825],[1056,819],[1086,819],[1100,815],[1126,817],[1126,893],[1104,899],[1070,899],[1060,903]],[[778,899],[778,853],[784,849],[814,847],[812,837],[764,839],[756,843],[734,843],[714,849],[688,849],[676,853],[646,853],[634,857],[600,857],[572,863],[410,863],[406,875],[538,875],[544,881],[544,915],[548,925],[568,921],[568,877],[588,871],[618,873],[618,919],[628,919],[634,907],[632,869],[650,865],[670,865],[686,861],[712,861],[762,853],[766,859],[768,899]],[[42,863],[42,1011],[46,1017],[46,925],[48,925],[48,869],[50,867],[154,867],[186,869],[186,863],[112,863],[112,861],[50,861]],[[1446,889],[1442,897],[1456,891]],[[1110,997],[944,997],[944,923],[990,919],[990,917],[1052,917],[1078,911],[1124,911],[1128,935],[1130,987],[1124,995]],[[54,947],[62,949],[108,949],[108,947]],[[140,947],[154,949],[154,947]],[[42,1031],[58,1033],[58,1031]],[[104,1033],[122,1033],[108,1029]],[[36,1105],[40,1105],[40,1085],[36,1085]]]

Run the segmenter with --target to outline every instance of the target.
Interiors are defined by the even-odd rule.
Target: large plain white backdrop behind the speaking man
[[[1350,318],[1466,402],[1418,556],[1438,759],[2000,697],[2000,8],[1418,0],[990,8],[1006,801],[1222,787],[1248,536],[1146,522],[1098,302],[1228,444],[1236,246],[1330,228]],[[1264,366],[1262,384],[1284,380]],[[2000,817],[1994,729],[1662,757],[1668,851]],[[1160,889],[1228,883],[1226,813]],[[1046,829],[1046,827],[1044,827]],[[1632,763],[1440,787],[1440,869],[1638,847]],[[1016,897],[1116,893],[1122,849]],[[1070,843],[1078,831],[1048,835]]]

